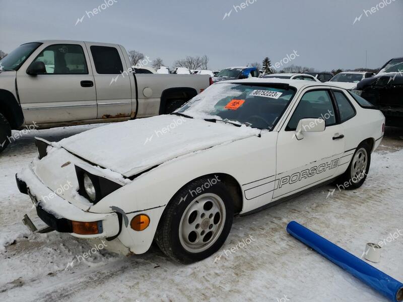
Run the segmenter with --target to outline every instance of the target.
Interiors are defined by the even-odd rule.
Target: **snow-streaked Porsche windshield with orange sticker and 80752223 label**
[[[286,85],[217,83],[175,113],[271,130],[286,110],[295,91]]]

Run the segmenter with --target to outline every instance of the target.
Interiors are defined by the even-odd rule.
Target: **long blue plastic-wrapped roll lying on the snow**
[[[320,255],[368,284],[391,301],[403,301],[403,283],[386,275],[316,233],[313,233],[298,222],[291,221],[287,225],[287,232]]]

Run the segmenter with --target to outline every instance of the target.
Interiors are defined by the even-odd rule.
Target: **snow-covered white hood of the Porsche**
[[[160,115],[91,129],[62,139],[59,145],[130,177],[176,157],[258,133],[244,125]]]

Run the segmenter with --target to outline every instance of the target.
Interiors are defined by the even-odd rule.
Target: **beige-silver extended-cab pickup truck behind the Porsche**
[[[209,75],[136,74],[118,44],[22,44],[0,61],[0,153],[12,129],[171,113],[211,84]]]

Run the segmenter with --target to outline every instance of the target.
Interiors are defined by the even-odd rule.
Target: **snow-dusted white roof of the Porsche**
[[[294,74],[294,73],[293,73]],[[341,87],[337,85],[321,83],[321,82],[313,82],[313,81],[304,81],[304,80],[290,80],[290,79],[279,79],[279,78],[248,78],[243,80],[228,80],[221,81],[213,85],[225,84],[225,83],[234,83],[234,84],[288,84],[291,87],[295,87],[296,89],[301,89],[305,87],[333,87],[341,89]]]

